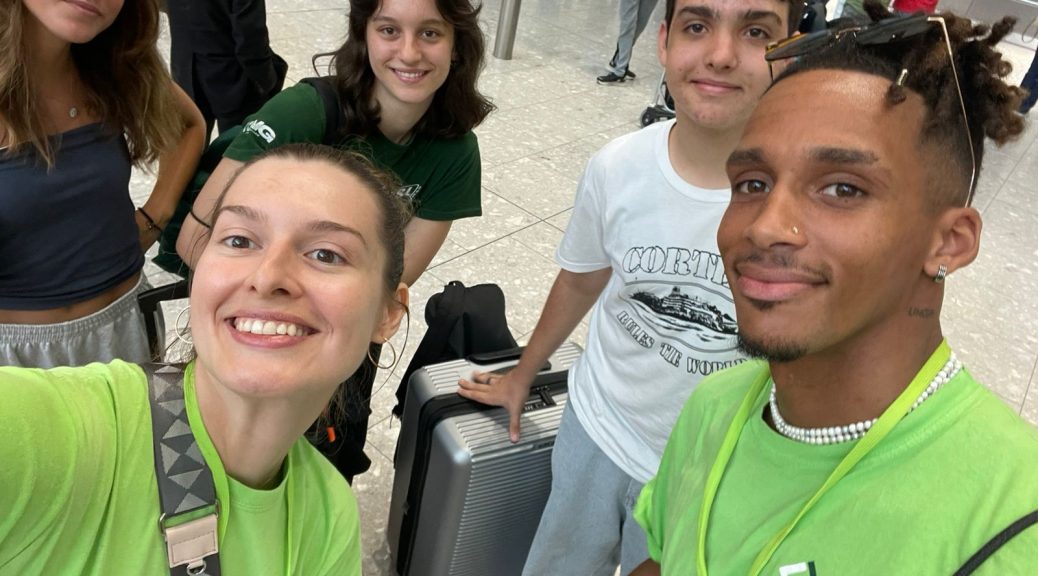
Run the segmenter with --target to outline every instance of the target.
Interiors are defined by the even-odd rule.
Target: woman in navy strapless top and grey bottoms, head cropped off
[[[155,0],[0,0],[0,365],[145,360],[136,294],[204,124]],[[132,165],[159,162],[134,210]]]

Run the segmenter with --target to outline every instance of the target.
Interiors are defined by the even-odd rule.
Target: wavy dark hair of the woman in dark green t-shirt
[[[345,134],[367,136],[378,130],[379,105],[372,98],[375,72],[367,61],[367,21],[381,0],[350,0],[346,43],[330,53],[335,89],[345,113]],[[476,88],[484,66],[485,43],[480,29],[482,4],[469,0],[436,0],[436,9],[454,29],[455,59],[446,81],[414,127],[414,134],[457,138],[475,128],[495,106]],[[315,61],[329,54],[318,54]]]

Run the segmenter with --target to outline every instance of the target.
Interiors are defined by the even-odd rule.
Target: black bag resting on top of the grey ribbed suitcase
[[[426,323],[429,331],[418,344],[397,387],[397,406],[392,413],[398,416],[404,411],[407,383],[415,371],[446,360],[519,346],[504,319],[504,293],[497,284],[465,287],[458,280],[449,282],[426,304]]]

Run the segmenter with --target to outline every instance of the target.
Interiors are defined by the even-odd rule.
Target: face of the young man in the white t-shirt
[[[741,127],[771,83],[764,49],[787,36],[788,17],[780,0],[678,0],[657,50],[679,121]]]

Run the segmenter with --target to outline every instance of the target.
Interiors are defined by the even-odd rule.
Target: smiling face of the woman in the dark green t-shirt
[[[454,29],[436,2],[382,0],[365,37],[379,104],[425,112],[450,73],[454,55]]]

